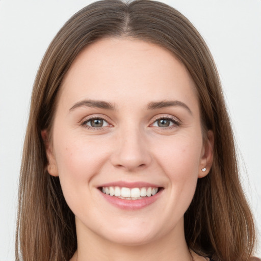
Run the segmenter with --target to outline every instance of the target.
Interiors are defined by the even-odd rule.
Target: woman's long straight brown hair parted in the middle
[[[197,87],[202,126],[214,133],[214,161],[198,180],[185,213],[188,247],[216,261],[248,260],[254,223],[239,179],[233,134],[218,72],[204,40],[177,10],[138,0],[105,0],[73,15],[50,43],[38,70],[25,136],[16,233],[16,260],[68,261],[77,248],[74,215],[59,177],[46,171],[41,130],[50,131],[57,93],[71,63],[88,44],[104,37],[131,37],[167,48]]]

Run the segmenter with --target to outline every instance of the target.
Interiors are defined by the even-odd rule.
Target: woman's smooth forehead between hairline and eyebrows
[[[137,39],[105,38],[86,48],[73,61],[61,85],[67,102],[90,98],[196,99],[197,91],[185,66],[169,50]],[[66,103],[67,103],[66,102]]]

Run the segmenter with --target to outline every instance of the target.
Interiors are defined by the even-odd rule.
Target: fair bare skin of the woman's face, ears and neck
[[[116,110],[71,109],[83,100],[107,101]],[[164,100],[189,110],[147,108]],[[106,120],[103,127],[88,126],[93,116]],[[170,126],[159,126],[159,117],[171,118]],[[213,135],[208,132],[203,142],[194,82],[168,50],[129,38],[88,45],[63,79],[52,133],[42,136],[48,172],[60,177],[75,214],[78,250],[72,260],[191,260],[183,216],[197,179],[211,168]],[[152,204],[122,210],[97,189],[120,180],[164,189]]]

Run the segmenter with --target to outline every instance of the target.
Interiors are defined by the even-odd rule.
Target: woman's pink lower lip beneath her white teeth
[[[107,195],[101,191],[100,193],[108,202],[121,208],[122,210],[140,210],[141,208],[154,203],[161,196],[162,191],[163,189],[153,196],[144,197],[142,199],[121,199],[115,196]]]

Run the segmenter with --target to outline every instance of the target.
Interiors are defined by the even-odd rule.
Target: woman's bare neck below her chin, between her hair
[[[76,222],[78,249],[74,261],[191,261],[187,247],[183,222],[164,237],[145,244],[123,245],[99,237],[91,230]]]

